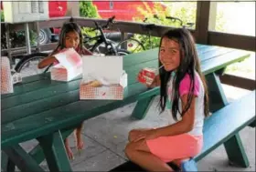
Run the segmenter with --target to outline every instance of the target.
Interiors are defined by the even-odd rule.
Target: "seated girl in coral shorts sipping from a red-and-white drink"
[[[134,129],[129,133],[126,156],[148,171],[173,171],[166,163],[195,157],[203,147],[203,123],[208,116],[208,90],[201,73],[192,35],[184,28],[162,36],[159,75],[149,87],[160,86],[160,110],[175,124]],[[142,72],[138,77],[142,77]]]

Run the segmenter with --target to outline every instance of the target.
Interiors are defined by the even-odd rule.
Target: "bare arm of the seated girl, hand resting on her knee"
[[[181,96],[182,108],[187,105],[187,95]],[[195,121],[196,96],[193,96],[191,106],[188,108],[182,120],[171,126],[164,126],[155,129],[156,137],[169,137],[187,133],[193,129]]]

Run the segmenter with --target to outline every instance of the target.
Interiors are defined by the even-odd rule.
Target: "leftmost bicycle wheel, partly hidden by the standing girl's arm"
[[[16,72],[20,73],[22,77],[34,76],[37,74],[42,74],[47,67],[39,69],[37,67],[38,63],[45,57],[47,53],[35,53],[31,55],[24,56],[16,65]]]

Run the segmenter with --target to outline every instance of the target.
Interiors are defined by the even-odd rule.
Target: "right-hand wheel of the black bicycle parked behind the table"
[[[130,53],[138,53],[141,51],[144,51],[144,45],[134,38],[129,38],[121,41],[117,46],[117,49],[125,49],[129,51]]]

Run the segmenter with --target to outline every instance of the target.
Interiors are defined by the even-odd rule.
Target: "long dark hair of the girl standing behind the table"
[[[72,18],[70,19],[70,21],[68,23],[64,23],[62,25],[61,31],[59,33],[59,43],[58,43],[58,46],[53,50],[51,55],[54,55],[54,54],[58,53],[59,50],[61,50],[61,49],[66,47],[66,45],[65,45],[65,38],[66,38],[66,35],[69,32],[76,32],[80,36],[80,44],[79,44],[79,47],[78,47],[78,50],[77,50],[78,53],[80,55],[90,55],[91,52],[89,50],[87,50],[83,46],[83,37],[82,37],[80,25],[78,25],[77,23],[73,22]]]

